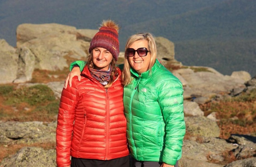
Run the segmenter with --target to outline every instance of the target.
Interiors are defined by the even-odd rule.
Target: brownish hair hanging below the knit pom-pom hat
[[[87,57],[86,65],[88,65],[88,67],[94,69],[93,52],[91,52],[89,54],[89,56]],[[113,82],[115,81],[115,78],[118,76],[117,67],[116,67],[116,63],[115,63],[114,58],[110,62],[110,66],[112,67],[112,72],[110,74],[110,80],[109,80],[108,84],[104,86],[105,89],[110,88],[112,86]]]

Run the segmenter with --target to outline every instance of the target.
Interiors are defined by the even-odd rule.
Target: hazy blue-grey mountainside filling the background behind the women
[[[245,70],[256,75],[255,0],[3,0],[0,39],[15,46],[19,24],[56,22],[97,29],[102,19],[116,20],[120,50],[133,33],[149,31],[174,42],[175,59],[209,66],[222,74]]]

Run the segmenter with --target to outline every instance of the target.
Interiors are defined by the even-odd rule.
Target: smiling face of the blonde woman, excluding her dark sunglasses
[[[135,41],[129,48],[137,50],[138,48],[145,47],[148,49],[148,42],[146,40]],[[136,70],[139,74],[144,73],[148,70],[148,65],[150,64],[151,54],[147,53],[147,56],[140,57],[137,52],[133,57],[128,57],[131,67]]]

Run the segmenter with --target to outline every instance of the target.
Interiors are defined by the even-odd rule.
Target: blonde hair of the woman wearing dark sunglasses
[[[131,64],[129,63],[128,56],[126,54],[126,50],[136,41],[139,40],[146,40],[148,42],[148,50],[150,51],[151,58],[150,58],[150,63],[148,65],[148,69],[150,70],[151,73],[151,68],[156,62],[156,56],[157,56],[157,51],[156,51],[156,42],[155,38],[151,33],[138,33],[131,35],[125,45],[125,60],[124,60],[124,70],[122,73],[122,81],[124,86],[128,85],[131,82]]]

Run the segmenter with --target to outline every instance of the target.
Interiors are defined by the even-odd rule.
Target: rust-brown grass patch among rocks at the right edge
[[[230,134],[256,133],[256,90],[220,102],[200,105],[200,108],[207,115],[216,112],[216,117],[220,120],[220,138],[227,139]]]

